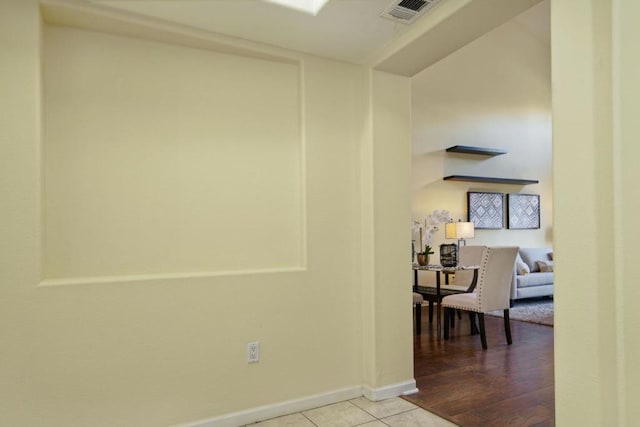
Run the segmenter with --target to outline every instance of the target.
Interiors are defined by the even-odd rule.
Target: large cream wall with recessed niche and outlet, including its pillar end
[[[411,383],[408,259],[382,256],[408,234],[407,79],[74,29],[41,49],[40,25],[37,1],[3,2],[3,425],[169,425]]]

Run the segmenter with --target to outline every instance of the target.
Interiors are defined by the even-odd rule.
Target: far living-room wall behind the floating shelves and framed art
[[[505,217],[502,230],[476,230],[468,244],[552,244],[550,51],[543,34],[529,30],[529,25],[535,28],[538,21],[544,22],[548,7],[548,2],[534,6],[413,77],[414,219],[447,209],[454,219],[466,220],[468,191],[539,194],[539,230],[508,230]],[[508,153],[496,157],[446,153],[453,145],[502,148]],[[540,183],[443,181],[448,175]],[[506,196],[504,202],[506,206]],[[444,242],[441,228],[434,244]]]

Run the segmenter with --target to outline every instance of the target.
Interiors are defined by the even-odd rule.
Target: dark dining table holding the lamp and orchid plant
[[[455,265],[455,266],[443,266],[440,264],[427,264],[420,265],[418,263],[413,263],[413,292],[417,292],[425,297],[431,297],[434,295],[433,286],[420,286],[418,282],[418,272],[419,271],[432,271],[436,273],[436,286],[435,286],[435,299],[436,299],[436,337],[439,340],[441,336],[441,302],[442,298],[447,295],[459,294],[463,292],[473,292],[476,287],[476,283],[478,282],[478,270],[480,269],[479,265]],[[466,290],[457,289],[447,289],[447,285],[449,284],[449,275],[455,274],[457,271],[461,270],[473,270],[473,279],[469,284],[469,287]],[[442,288],[442,279],[441,275],[445,275],[445,288]]]

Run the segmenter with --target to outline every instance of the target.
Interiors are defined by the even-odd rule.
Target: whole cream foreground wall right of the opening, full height
[[[552,2],[558,425],[640,415],[639,16],[632,0]]]

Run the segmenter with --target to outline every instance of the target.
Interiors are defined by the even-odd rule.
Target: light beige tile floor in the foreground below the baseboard
[[[454,427],[455,424],[399,397],[372,402],[365,397],[273,418],[249,427]]]

